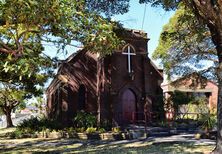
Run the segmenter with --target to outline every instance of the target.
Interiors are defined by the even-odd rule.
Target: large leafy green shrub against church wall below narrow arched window
[[[91,113],[77,112],[73,122],[77,128],[84,127],[87,129],[89,127],[96,127],[96,116]]]

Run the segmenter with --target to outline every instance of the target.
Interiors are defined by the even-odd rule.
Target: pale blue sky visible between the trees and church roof
[[[146,6],[146,11],[145,10]],[[145,16],[144,16],[145,12]],[[119,21],[123,24],[125,28],[143,30],[148,33],[148,52],[151,58],[153,51],[158,45],[158,39],[162,31],[162,27],[168,23],[169,18],[174,14],[174,12],[166,12],[162,8],[154,8],[150,5],[139,4],[138,0],[130,0],[129,12],[123,15],[116,15],[113,20]],[[143,23],[144,17],[144,24]],[[77,48],[67,48],[68,53],[64,54],[62,52],[55,55],[56,48],[52,46],[45,46],[45,51],[48,55],[54,57],[58,56],[59,59],[66,59],[73,52],[76,52]],[[158,61],[154,61],[159,65]]]

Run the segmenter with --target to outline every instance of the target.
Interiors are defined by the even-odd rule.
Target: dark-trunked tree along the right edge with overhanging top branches
[[[202,25],[209,28],[211,40],[215,45],[218,66],[218,105],[217,105],[217,146],[215,153],[222,153],[222,2],[221,0],[140,0],[141,3],[151,3],[153,6],[162,6],[165,10],[177,9],[183,3],[190,9]]]

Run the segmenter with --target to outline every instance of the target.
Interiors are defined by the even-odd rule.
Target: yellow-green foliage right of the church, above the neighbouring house
[[[218,60],[210,32],[184,6],[164,26],[153,58],[161,59],[166,73],[171,76],[198,71],[216,80]]]

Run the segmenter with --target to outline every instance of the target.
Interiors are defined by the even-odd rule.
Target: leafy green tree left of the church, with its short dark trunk
[[[41,87],[53,74],[53,63],[42,54],[43,49],[36,36],[30,35],[19,58],[0,53],[0,108],[6,115],[7,127],[13,126],[11,111],[25,98],[41,95]]]

